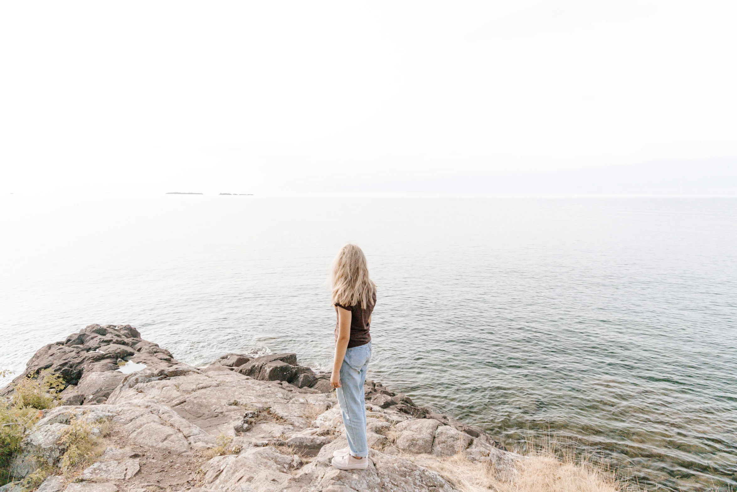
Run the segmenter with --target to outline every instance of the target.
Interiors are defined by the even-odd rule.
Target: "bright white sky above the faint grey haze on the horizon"
[[[735,1],[0,4],[0,193],[737,156]]]

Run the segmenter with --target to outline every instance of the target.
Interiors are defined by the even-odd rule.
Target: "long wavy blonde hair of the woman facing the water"
[[[346,244],[332,261],[330,269],[332,303],[343,306],[360,304],[366,309],[376,294],[376,284],[368,277],[366,254],[352,243]]]

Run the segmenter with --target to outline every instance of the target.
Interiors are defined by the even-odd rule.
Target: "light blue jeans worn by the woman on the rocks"
[[[366,443],[366,399],[363,384],[366,382],[366,369],[371,360],[371,342],[346,350],[343,365],[340,366],[340,388],[336,388],[340,412],[346,425],[348,447],[354,457],[368,456]]]

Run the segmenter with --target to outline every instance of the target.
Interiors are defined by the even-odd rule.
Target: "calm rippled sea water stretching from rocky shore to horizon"
[[[328,367],[327,270],[365,250],[371,377],[510,447],[650,488],[737,487],[737,198],[1,198],[0,368],[90,323],[181,361]],[[659,490],[660,490],[659,489]]]

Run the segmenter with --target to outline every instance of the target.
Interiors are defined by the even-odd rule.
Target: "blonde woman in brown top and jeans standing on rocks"
[[[346,244],[332,263],[332,304],[335,325],[335,359],[330,385],[338,393],[348,447],[335,451],[332,465],[340,470],[368,467],[366,401],[363,383],[371,360],[371,312],[376,305],[376,284],[368,277],[366,255],[355,244]]]

